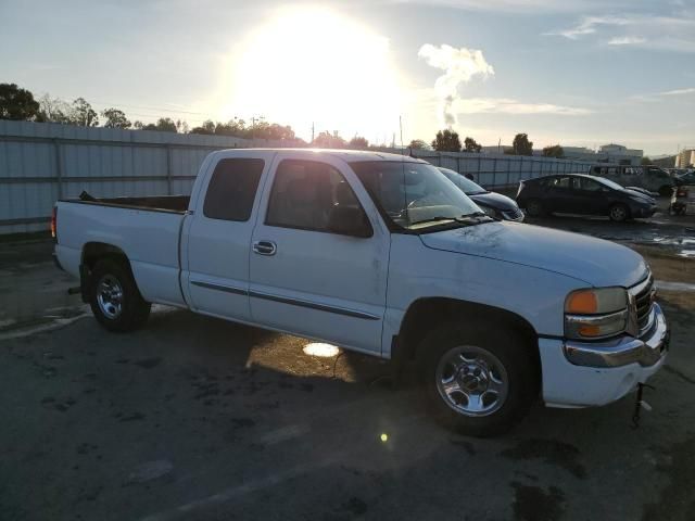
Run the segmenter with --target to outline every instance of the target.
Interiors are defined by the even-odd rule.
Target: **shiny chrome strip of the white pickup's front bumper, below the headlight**
[[[565,342],[567,359],[576,366],[620,367],[637,363],[642,367],[655,365],[666,356],[669,345],[669,328],[664,312],[657,303],[652,309],[654,321],[643,338],[619,336],[605,342]]]

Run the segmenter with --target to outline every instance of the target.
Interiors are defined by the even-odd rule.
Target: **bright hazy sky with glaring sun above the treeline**
[[[695,0],[0,0],[0,82],[131,120],[695,147]]]

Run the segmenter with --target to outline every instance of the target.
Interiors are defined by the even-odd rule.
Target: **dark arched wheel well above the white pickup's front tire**
[[[410,304],[401,323],[396,342],[394,342],[396,353],[393,354],[393,358],[399,364],[415,361],[418,346],[427,333],[439,323],[455,319],[463,319],[476,325],[486,322],[491,328],[505,327],[517,332],[523,339],[523,345],[534,360],[538,381],[541,381],[538,333],[523,317],[500,307],[455,298],[419,298]]]

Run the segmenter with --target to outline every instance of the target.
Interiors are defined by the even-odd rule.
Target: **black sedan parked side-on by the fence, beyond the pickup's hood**
[[[521,181],[517,203],[530,216],[546,213],[607,215],[615,221],[650,217],[657,209],[656,201],[643,192],[584,174],[563,174]]]

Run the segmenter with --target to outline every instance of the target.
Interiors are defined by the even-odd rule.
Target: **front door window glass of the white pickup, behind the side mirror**
[[[336,168],[315,161],[285,160],[275,174],[265,224],[328,231],[331,212],[338,207],[362,209],[352,188]],[[366,214],[364,219],[367,220]]]

